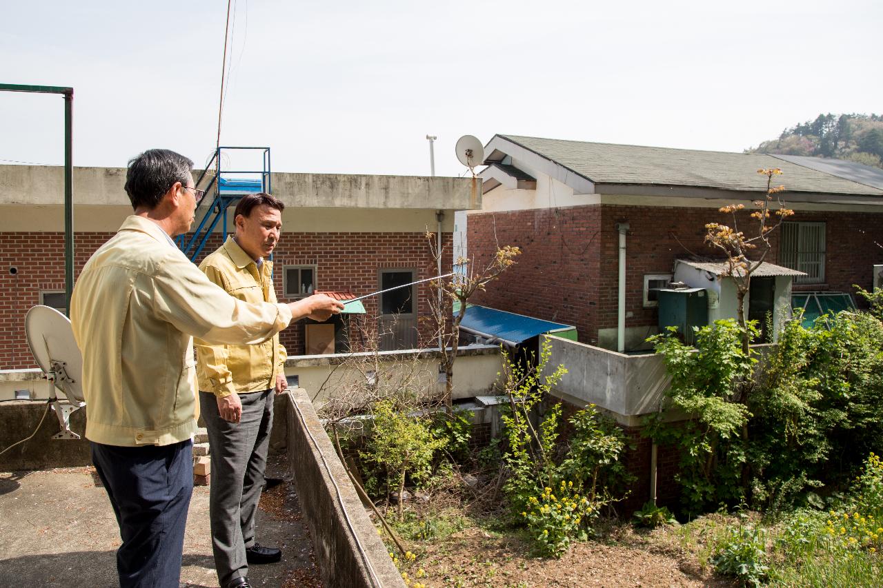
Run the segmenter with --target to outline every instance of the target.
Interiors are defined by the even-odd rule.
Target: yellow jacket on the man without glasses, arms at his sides
[[[273,302],[273,262],[264,260],[258,269],[233,237],[200,263],[208,279],[230,296],[245,302]],[[260,392],[275,387],[276,374],[284,373],[285,348],[279,335],[258,345],[212,345],[197,338],[196,373],[200,390],[215,396]]]

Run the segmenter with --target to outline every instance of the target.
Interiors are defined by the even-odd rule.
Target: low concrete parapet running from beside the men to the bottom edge
[[[404,588],[306,390],[293,388],[283,396],[288,458],[322,581],[347,588]]]

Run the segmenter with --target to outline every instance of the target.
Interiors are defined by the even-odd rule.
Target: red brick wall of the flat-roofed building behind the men
[[[75,238],[74,272],[79,271],[100,245],[113,233],[77,233]],[[450,271],[452,236],[442,236],[444,258],[442,271]],[[220,245],[221,237],[213,236],[204,249],[211,253]],[[274,255],[276,296],[283,298],[281,268],[284,265],[315,264],[320,290],[351,290],[368,294],[379,290],[378,270],[381,268],[413,268],[417,279],[435,275],[435,262],[423,233],[283,233]],[[16,275],[9,268],[18,269]],[[426,296],[429,288],[419,284],[418,316],[429,315]],[[40,304],[41,290],[64,290],[63,233],[0,233],[0,369],[36,367],[27,347],[24,333],[25,313]],[[364,301],[367,311],[358,320],[370,321],[377,313],[377,298]],[[432,333],[432,326],[420,326],[422,340]],[[304,353],[302,321],[292,324],[281,335],[291,355]]]

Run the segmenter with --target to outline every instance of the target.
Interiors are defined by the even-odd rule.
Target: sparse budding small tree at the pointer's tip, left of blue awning
[[[426,231],[426,241],[436,262],[442,258],[444,248],[435,245],[435,233]],[[439,279],[433,283],[439,295],[430,298],[429,306],[436,329],[436,337],[440,340],[442,353],[442,369],[445,373],[445,392],[443,401],[448,414],[453,414],[454,392],[454,361],[460,343],[460,323],[466,314],[469,298],[479,290],[485,290],[488,283],[515,264],[515,258],[521,254],[518,247],[505,245],[497,247],[494,257],[483,267],[476,267],[474,260],[458,258],[457,265],[466,268],[464,274],[456,274],[449,279]],[[457,300],[460,308],[451,313],[451,303]]]

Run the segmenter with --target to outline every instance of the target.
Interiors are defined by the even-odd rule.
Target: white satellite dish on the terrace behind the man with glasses
[[[27,345],[37,365],[53,388],[49,396],[56,411],[61,432],[53,439],[79,439],[71,431],[71,413],[86,406],[83,396],[83,356],[73,338],[71,320],[49,306],[34,306],[25,315]],[[56,389],[64,393],[66,402],[56,396]]]

